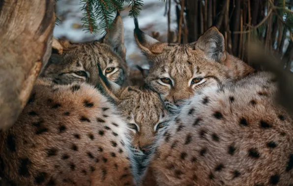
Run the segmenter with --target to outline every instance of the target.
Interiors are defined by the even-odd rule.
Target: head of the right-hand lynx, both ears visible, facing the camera
[[[146,84],[160,94],[169,109],[176,109],[204,87],[232,78],[228,66],[233,66],[229,63],[235,59],[225,52],[224,37],[216,27],[209,28],[197,42],[179,45],[146,35],[136,19],[135,25],[135,40],[150,63]]]

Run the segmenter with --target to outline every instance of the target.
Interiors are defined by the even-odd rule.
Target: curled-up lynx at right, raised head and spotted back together
[[[179,112],[159,131],[146,178],[158,186],[293,184],[293,120],[276,103],[272,74],[225,52],[215,27],[195,43],[168,45],[136,20],[135,39],[152,65],[146,83]]]

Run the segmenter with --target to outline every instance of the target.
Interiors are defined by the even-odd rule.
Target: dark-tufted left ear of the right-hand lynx
[[[163,52],[166,44],[159,42],[158,40],[150,37],[145,34],[142,30],[139,29],[138,20],[134,18],[134,38],[137,45],[141,48],[141,50],[146,54],[146,57],[152,58],[156,54],[160,54]]]

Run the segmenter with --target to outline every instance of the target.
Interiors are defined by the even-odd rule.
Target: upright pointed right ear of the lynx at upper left
[[[124,27],[122,18],[118,12],[114,22],[112,23],[112,28],[101,39],[101,42],[112,46],[113,50],[125,60],[126,47],[124,46]]]

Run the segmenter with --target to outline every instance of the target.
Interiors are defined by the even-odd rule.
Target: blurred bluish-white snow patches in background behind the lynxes
[[[74,42],[85,42],[99,39],[102,37],[101,32],[94,35],[83,31],[81,19],[80,0],[58,0],[56,13],[60,20],[54,29],[54,37],[64,38]],[[140,28],[149,35],[152,32],[159,32],[159,40],[167,41],[168,20],[165,16],[165,2],[159,0],[145,0],[140,16],[138,17]],[[124,5],[124,11],[120,13],[124,23],[124,40],[126,46],[126,60],[131,68],[135,65],[147,68],[146,58],[136,46],[133,29],[133,19],[128,16],[128,4]],[[176,30],[175,3],[171,11],[171,30]]]

